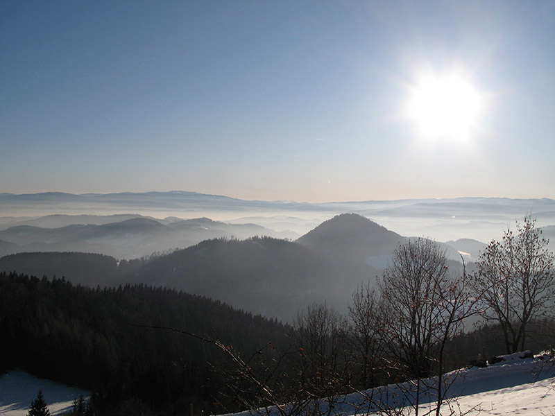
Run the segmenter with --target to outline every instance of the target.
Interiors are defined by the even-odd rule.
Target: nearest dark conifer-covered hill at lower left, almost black
[[[0,372],[88,388],[96,403],[140,397],[173,408],[196,403],[211,413],[223,393],[222,352],[172,327],[218,338],[239,352],[284,345],[287,327],[221,302],[166,288],[94,289],[65,279],[0,273]],[[220,413],[221,408],[217,409]]]

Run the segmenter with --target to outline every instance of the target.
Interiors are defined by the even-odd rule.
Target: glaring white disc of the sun
[[[423,137],[466,139],[479,106],[477,90],[463,78],[425,78],[413,91],[409,116],[418,123]]]

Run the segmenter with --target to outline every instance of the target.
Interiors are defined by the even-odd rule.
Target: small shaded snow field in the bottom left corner
[[[71,410],[74,400],[80,395],[87,398],[90,392],[37,379],[22,371],[12,371],[0,376],[0,416],[24,416],[39,390],[46,401],[51,415],[60,415]]]

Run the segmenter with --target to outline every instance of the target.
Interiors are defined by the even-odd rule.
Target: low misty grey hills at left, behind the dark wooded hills
[[[123,216],[126,218],[127,216]],[[71,216],[56,218],[67,223]],[[75,220],[88,219],[77,216]],[[94,224],[71,224],[57,228],[15,225],[0,230],[0,257],[17,252],[94,252],[117,259],[133,259],[176,248],[186,248],[207,239],[219,237],[246,239],[250,236],[296,236],[291,232],[275,232],[254,224],[227,224],[209,218],[160,221],[132,216],[124,220],[110,216]],[[35,223],[52,223],[52,218],[35,218]],[[166,224],[164,224],[164,223]]]

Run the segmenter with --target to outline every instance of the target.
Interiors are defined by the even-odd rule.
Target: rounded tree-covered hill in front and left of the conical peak
[[[310,302],[335,300],[334,288],[343,285],[311,250],[270,237],[203,241],[153,259],[131,281],[210,296],[282,320]]]

